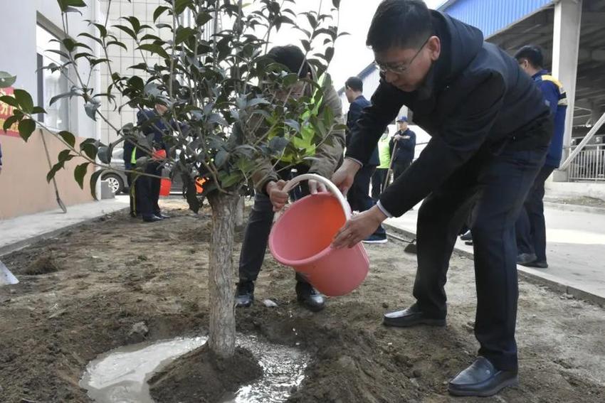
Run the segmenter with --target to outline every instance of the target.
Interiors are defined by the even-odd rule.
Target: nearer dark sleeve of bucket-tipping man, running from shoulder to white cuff
[[[399,217],[438,188],[484,144],[503,104],[505,83],[495,72],[477,77],[458,108],[419,158],[386,188],[382,207]]]

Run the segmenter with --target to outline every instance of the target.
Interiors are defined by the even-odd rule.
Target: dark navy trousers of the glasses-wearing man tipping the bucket
[[[548,124],[544,126],[550,129]],[[417,222],[414,296],[435,318],[446,316],[446,274],[456,235],[473,207],[479,355],[502,370],[517,368],[517,245],[515,221],[544,163],[546,147],[473,157],[424,200]],[[460,213],[458,210],[467,211]]]

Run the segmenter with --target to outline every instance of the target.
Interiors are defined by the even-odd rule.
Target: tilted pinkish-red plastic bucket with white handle
[[[323,183],[330,192],[307,195],[290,205],[273,225],[269,249],[275,260],[293,267],[317,291],[342,296],[362,284],[369,259],[362,243],[334,249],[332,240],[351,217],[351,209],[340,190],[326,178],[307,173],[288,182],[288,192],[301,181]]]

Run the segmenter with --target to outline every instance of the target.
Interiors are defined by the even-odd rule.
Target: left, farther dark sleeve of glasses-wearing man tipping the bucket
[[[381,82],[372,95],[371,102],[369,107],[362,110],[357,124],[351,131],[346,153],[347,157],[364,164],[372,156],[384,129],[395,119],[404,104],[403,92]]]

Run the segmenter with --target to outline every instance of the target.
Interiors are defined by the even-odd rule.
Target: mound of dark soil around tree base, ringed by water
[[[149,380],[156,402],[214,403],[263,375],[252,353],[236,348],[231,360],[219,360],[206,345],[174,360]]]

